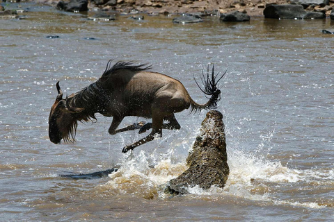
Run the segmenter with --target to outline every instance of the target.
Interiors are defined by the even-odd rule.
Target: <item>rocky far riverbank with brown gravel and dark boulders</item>
[[[22,0],[0,0],[17,2]],[[275,19],[334,19],[334,0],[27,0],[54,6],[59,10],[116,11],[124,14],[138,12],[150,15],[193,14],[194,16],[221,16],[223,22],[243,22],[250,17]],[[3,4],[2,4],[3,5]],[[284,6],[282,6],[284,5]],[[282,7],[281,7],[282,6]],[[0,17],[8,12],[0,6]],[[100,19],[100,18],[97,18]],[[104,17],[102,19],[105,19]],[[190,22],[193,22],[191,18]],[[196,20],[197,18],[195,18]],[[199,17],[201,20],[201,18]],[[111,20],[113,20],[111,18]],[[195,21],[194,20],[194,21]],[[173,21],[174,22],[174,21]],[[179,23],[190,23],[188,20]],[[198,22],[198,21],[197,21]]]

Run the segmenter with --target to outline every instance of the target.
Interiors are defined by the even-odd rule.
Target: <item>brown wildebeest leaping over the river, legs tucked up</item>
[[[144,133],[152,128],[150,135],[134,142],[122,149],[122,153],[134,149],[154,139],[154,136],[162,136],[162,129],[180,129],[180,124],[175,119],[175,112],[191,107],[193,110],[216,108],[221,91],[217,87],[220,78],[214,75],[212,67],[211,78],[209,66],[207,74],[202,71],[201,80],[204,89],[200,90],[209,101],[200,105],[191,99],[191,96],[179,80],[164,74],[148,71],[147,64],[134,65],[133,62],[116,62],[111,67],[109,60],[106,69],[95,83],[88,85],[79,92],[66,96],[56,83],[58,96],[51,107],[49,115],[49,138],[54,144],[63,139],[64,142],[74,142],[78,121],[96,120],[95,113],[105,117],[113,117],[109,133],[140,129]],[[124,117],[136,116],[152,118],[152,123],[134,123],[131,126],[117,129]]]

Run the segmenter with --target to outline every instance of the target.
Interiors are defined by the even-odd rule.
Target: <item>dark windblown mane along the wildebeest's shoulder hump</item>
[[[151,69],[151,66],[148,64],[141,64],[141,65],[134,65],[134,62],[116,62],[115,65],[111,67],[111,62],[113,60],[109,60],[109,62],[106,64],[106,70],[104,70],[104,73],[102,74],[100,80],[105,80],[110,75],[115,74],[116,71],[121,69],[127,69],[130,71],[145,71],[148,69]]]

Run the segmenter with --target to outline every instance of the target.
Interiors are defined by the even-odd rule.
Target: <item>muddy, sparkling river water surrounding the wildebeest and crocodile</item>
[[[334,36],[321,33],[334,26],[329,19],[223,24],[209,17],[180,25],[173,16],[118,15],[94,22],[84,13],[21,6],[29,8],[25,19],[0,20],[0,221],[334,219]],[[184,171],[205,112],[177,114],[181,130],[164,130],[133,157],[122,147],[143,135],[109,135],[112,119],[101,115],[79,123],[75,144],[49,141],[56,82],[64,94],[77,92],[112,58],[150,63],[199,103],[207,99],[193,74],[212,62],[216,71],[227,69],[218,108],[230,165],[224,189],[164,194],[165,183]],[[122,126],[142,120],[128,117]],[[121,169],[109,178],[59,177],[115,166]]]

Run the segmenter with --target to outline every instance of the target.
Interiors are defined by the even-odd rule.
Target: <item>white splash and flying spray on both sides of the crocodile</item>
[[[188,188],[188,198],[199,198],[201,200],[223,200],[224,198],[238,198],[250,200],[254,203],[266,205],[291,205],[293,207],[308,207],[320,209],[331,207],[326,203],[321,203],[318,199],[303,200],[295,199],[292,193],[299,190],[291,190],[293,186],[310,186],[308,183],[319,182],[321,185],[328,182],[329,178],[334,178],[333,171],[299,170],[289,169],[279,160],[268,160],[271,151],[272,139],[276,136],[275,129],[267,133],[260,134],[258,144],[254,140],[245,150],[239,137],[234,135],[244,135],[251,133],[247,126],[242,128],[242,133],[237,128],[230,128],[238,125],[234,124],[238,119],[226,119],[232,117],[224,112],[227,128],[225,133],[228,142],[228,164],[230,166],[230,176],[224,189],[211,187],[203,190],[200,187]],[[193,117],[191,117],[193,118]],[[196,118],[196,117],[194,117]],[[197,117],[198,118],[198,117]],[[189,119],[189,124],[193,120]],[[230,123],[232,121],[232,123]],[[241,123],[249,123],[251,118],[240,119]],[[240,125],[241,126],[241,125]],[[244,131],[248,130],[248,131]],[[112,195],[137,196],[144,199],[168,198],[169,194],[164,191],[166,183],[172,178],[179,176],[186,170],[185,159],[191,150],[196,136],[200,133],[200,127],[187,125],[181,130],[168,131],[164,137],[150,142],[150,146],[138,149],[131,160],[126,157],[122,159],[120,171],[112,173],[109,182],[101,187]],[[132,137],[122,137],[122,144],[131,139],[138,139],[142,135],[133,133]],[[252,138],[253,139],[253,138]],[[333,186],[333,182],[329,185]]]

